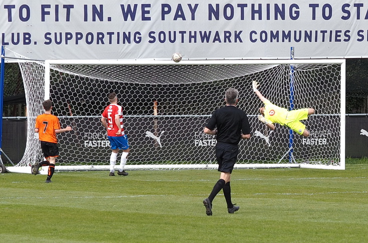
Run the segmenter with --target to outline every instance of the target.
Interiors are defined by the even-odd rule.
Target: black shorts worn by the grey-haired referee
[[[238,145],[217,142],[216,143],[216,158],[218,163],[218,171],[232,172],[236,159],[238,157]]]

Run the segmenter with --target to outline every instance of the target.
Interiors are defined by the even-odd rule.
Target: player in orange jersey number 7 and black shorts
[[[46,183],[51,182],[51,177],[54,174],[56,157],[59,156],[58,139],[56,133],[70,131],[73,128],[67,126],[66,128],[60,128],[59,118],[51,114],[53,103],[50,99],[45,100],[42,105],[44,106],[45,113],[37,116],[35,132],[39,133],[39,139],[41,142],[41,148],[46,158],[46,161],[38,162],[32,165],[32,173],[37,174],[41,166],[49,165],[49,171],[46,179]]]

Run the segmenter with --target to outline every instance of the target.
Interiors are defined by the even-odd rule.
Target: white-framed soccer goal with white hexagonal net
[[[131,150],[126,169],[217,168],[214,135],[203,128],[225,90],[239,90],[238,107],[249,117],[252,137],[240,142],[236,168],[344,169],[345,61],[294,60],[20,60],[28,107],[27,147],[16,166],[43,158],[35,117],[51,98],[63,127],[56,170],[109,168],[110,147],[101,124],[107,94],[124,109]],[[272,103],[314,108],[305,120],[309,137],[257,119],[262,102],[252,80]],[[119,157],[118,157],[119,160]]]

